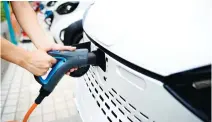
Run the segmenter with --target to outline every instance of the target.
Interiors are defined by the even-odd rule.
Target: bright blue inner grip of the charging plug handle
[[[41,76],[39,77],[39,80],[42,84],[47,84],[51,77],[55,74],[55,72],[66,62],[66,59],[63,57],[54,57],[57,59],[57,63],[52,67],[52,70],[48,74],[48,76],[43,79]]]

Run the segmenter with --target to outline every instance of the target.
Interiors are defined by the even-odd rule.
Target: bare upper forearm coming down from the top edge
[[[53,44],[53,41],[49,41],[49,38],[38,23],[37,16],[27,1],[11,3],[19,24],[37,48],[45,49],[47,45]]]

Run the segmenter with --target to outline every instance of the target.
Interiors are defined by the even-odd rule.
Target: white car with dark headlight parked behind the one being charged
[[[79,43],[83,33],[82,17],[91,4],[93,4],[91,0],[58,1],[55,3],[52,9],[53,14],[49,16],[50,21],[47,23],[49,23],[50,33],[57,43],[61,43],[61,41],[65,45]],[[68,35],[65,34],[66,31],[68,31]]]

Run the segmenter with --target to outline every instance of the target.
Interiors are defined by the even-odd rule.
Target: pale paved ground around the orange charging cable
[[[27,50],[32,44],[20,44]],[[39,93],[40,85],[27,70],[9,64],[1,82],[1,120],[21,121]],[[75,82],[64,76],[53,93],[44,99],[33,114],[30,122],[81,122],[74,103]]]

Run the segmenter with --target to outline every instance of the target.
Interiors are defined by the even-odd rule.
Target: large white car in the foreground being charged
[[[209,122],[210,1],[96,1],[84,41],[105,66],[79,78],[83,122]]]

